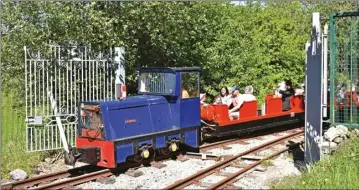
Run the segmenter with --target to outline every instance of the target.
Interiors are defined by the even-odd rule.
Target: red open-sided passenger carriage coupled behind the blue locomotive
[[[303,95],[292,96],[290,106],[290,110],[282,111],[282,98],[269,94],[265,97],[265,110],[257,109],[257,101],[244,102],[239,110],[239,118],[230,121],[227,105],[201,105],[201,119],[204,123],[202,139],[303,122]]]

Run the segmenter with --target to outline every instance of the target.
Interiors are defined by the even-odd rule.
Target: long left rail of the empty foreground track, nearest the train
[[[278,139],[274,139],[270,142],[267,142],[267,143],[264,143],[262,145],[259,145],[259,146],[256,146],[250,150],[247,150],[247,151],[244,151],[242,153],[239,153],[235,156],[232,156],[230,158],[227,158],[221,162],[218,162],[217,164],[215,165],[212,165],[206,169],[203,169],[203,170],[200,170],[198,171],[197,173],[195,173],[194,175],[192,176],[189,176],[185,179],[182,179],[182,180],[179,180],[175,183],[173,183],[172,185],[169,185],[167,186],[165,189],[183,189],[191,184],[193,184],[193,181],[198,181],[199,179],[202,179],[206,176],[208,176],[209,174],[213,173],[214,171],[218,170],[218,169],[222,169],[224,166],[227,166],[228,164],[230,164],[232,161],[238,159],[239,157],[241,156],[244,156],[244,155],[247,155],[247,154],[250,154],[250,153],[253,153],[253,152],[257,152],[267,146],[271,146],[271,145],[274,145],[274,144],[277,144],[277,143],[280,143],[281,141],[283,140],[286,140],[286,139],[289,139],[289,138],[293,138],[295,136],[299,136],[299,135],[302,135],[304,133],[304,130],[300,130],[298,132],[294,132],[292,134],[289,134],[289,135],[286,135],[286,136],[283,136],[283,137],[280,137]]]

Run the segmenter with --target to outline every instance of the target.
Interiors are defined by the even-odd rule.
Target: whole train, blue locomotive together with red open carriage
[[[263,110],[257,110],[257,101],[244,102],[240,118],[230,121],[227,105],[201,105],[199,79],[198,67],[140,68],[138,96],[82,102],[78,154],[69,154],[65,162],[116,168],[179,150],[198,151],[206,138],[303,124],[303,95],[292,96],[286,111],[282,98],[273,94],[266,96]]]

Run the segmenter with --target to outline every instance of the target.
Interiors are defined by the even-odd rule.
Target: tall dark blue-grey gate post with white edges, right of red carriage
[[[321,159],[323,110],[326,106],[326,50],[320,31],[320,14],[313,13],[312,37],[306,45],[305,153],[306,164]],[[324,45],[325,46],[325,45]],[[324,57],[323,55],[324,54]]]

